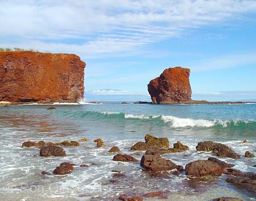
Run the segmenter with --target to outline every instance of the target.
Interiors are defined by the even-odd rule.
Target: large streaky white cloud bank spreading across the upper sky
[[[0,1],[0,43],[85,58],[138,54],[187,28],[255,11],[246,0]]]

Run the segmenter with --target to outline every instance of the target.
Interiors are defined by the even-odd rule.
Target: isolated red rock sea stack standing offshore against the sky
[[[147,85],[154,104],[191,102],[190,69],[168,68]]]

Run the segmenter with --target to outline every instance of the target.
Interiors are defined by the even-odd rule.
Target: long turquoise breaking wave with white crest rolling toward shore
[[[217,128],[256,128],[256,122],[253,120],[229,119],[229,120],[207,120],[207,119],[191,119],[177,118],[170,115],[145,115],[145,114],[125,114],[122,112],[98,112],[98,111],[56,111],[60,115],[69,118],[86,118],[91,120],[119,120],[126,122],[150,123],[159,125],[168,125],[173,128],[184,127],[217,127]]]

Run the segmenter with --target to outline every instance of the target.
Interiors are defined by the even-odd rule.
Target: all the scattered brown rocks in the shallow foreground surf
[[[124,153],[118,153],[113,156],[113,161],[117,162],[130,162],[139,164],[142,167],[142,170],[146,171],[147,174],[152,175],[152,177],[160,177],[164,178],[166,175],[174,175],[174,177],[179,177],[179,175],[187,175],[188,178],[192,179],[191,181],[199,178],[205,177],[217,177],[220,175],[227,175],[225,181],[227,183],[233,184],[238,189],[246,190],[256,195],[256,174],[251,172],[242,173],[240,170],[232,169],[234,164],[228,164],[222,160],[219,160],[216,157],[209,157],[208,160],[196,160],[189,162],[185,165],[185,168],[181,165],[177,165],[172,162],[170,159],[166,159],[160,155],[162,154],[170,154],[176,152],[185,152],[188,150],[187,145],[183,145],[179,141],[174,143],[174,147],[170,148],[169,140],[166,137],[155,137],[147,134],[145,137],[145,142],[138,142],[131,146],[131,151],[138,150],[141,153],[143,151],[143,156],[139,161],[137,158]],[[86,142],[88,139],[84,138],[80,141]],[[64,142],[64,143],[63,143]],[[22,144],[23,147],[38,147],[40,148],[40,156],[48,157],[48,156],[66,156],[65,150],[61,146],[65,146],[66,144],[70,145],[68,141],[63,141],[62,143],[51,143],[55,145],[49,145],[44,141],[39,141],[38,143],[27,141]],[[76,142],[76,141],[75,141]],[[102,139],[94,140],[94,143],[102,143]],[[56,146],[59,144],[60,146]],[[76,143],[75,143],[76,144]],[[72,145],[71,145],[72,146]],[[74,145],[73,145],[74,146]],[[76,145],[75,145],[76,146]],[[170,150],[170,151],[168,151]],[[230,157],[232,160],[238,160],[240,156],[235,153],[228,146],[221,143],[214,143],[212,141],[204,141],[200,142],[196,146],[197,151],[207,151],[216,153],[219,157]],[[109,154],[114,152],[121,152],[121,150],[117,146],[112,146],[109,149]],[[220,152],[220,154],[218,154]],[[225,154],[224,154],[225,153]],[[247,153],[248,154],[248,153]],[[140,154],[136,154],[136,156],[140,156]],[[177,161],[177,160],[176,160]],[[97,164],[92,164],[97,165]],[[73,166],[80,168],[87,168],[89,165],[82,164],[80,166],[76,166],[75,164],[71,164],[70,162],[62,162],[59,166],[57,166],[53,170],[53,174],[57,175],[66,175],[72,173],[72,171],[76,170]],[[121,173],[121,171],[113,170],[114,174],[112,175],[112,179],[109,180],[108,183],[117,183],[122,179],[127,178],[127,174]],[[48,173],[47,171],[42,171],[42,175],[52,175],[52,173]],[[168,198],[167,191],[152,191],[144,194],[131,194],[123,193],[119,195],[119,200],[143,200],[144,198]],[[239,198],[229,198],[229,197],[221,197],[216,198],[214,200],[241,200]]]

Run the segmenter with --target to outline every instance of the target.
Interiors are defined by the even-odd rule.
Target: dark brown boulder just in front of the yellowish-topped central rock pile
[[[178,168],[171,160],[164,159],[158,155],[142,156],[141,166],[152,171],[173,170]]]

